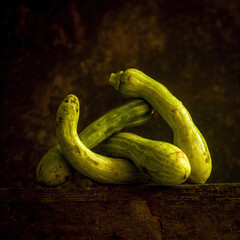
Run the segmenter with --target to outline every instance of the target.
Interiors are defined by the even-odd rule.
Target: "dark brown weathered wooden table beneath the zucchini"
[[[240,184],[0,189],[0,239],[240,239]]]

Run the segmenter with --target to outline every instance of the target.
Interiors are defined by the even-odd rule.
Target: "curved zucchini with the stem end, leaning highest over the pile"
[[[174,133],[174,144],[182,149],[191,164],[190,183],[204,183],[212,171],[207,143],[182,102],[158,81],[137,69],[127,69],[109,79],[117,91],[126,97],[143,98],[166,120]]]

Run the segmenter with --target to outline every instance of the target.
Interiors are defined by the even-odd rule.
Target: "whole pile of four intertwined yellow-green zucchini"
[[[109,83],[132,99],[78,134],[78,98],[73,94],[65,97],[56,114],[59,145],[40,160],[37,181],[57,187],[77,171],[100,184],[204,183],[211,174],[211,156],[183,104],[161,83],[137,69],[112,73]],[[173,144],[122,132],[147,122],[153,109],[172,128]]]

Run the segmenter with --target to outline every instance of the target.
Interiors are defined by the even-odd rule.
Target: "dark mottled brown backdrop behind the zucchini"
[[[0,187],[39,187],[35,171],[57,144],[60,102],[78,96],[81,131],[126,102],[108,79],[129,67],[189,110],[212,155],[208,182],[240,181],[238,0],[13,2],[0,10]],[[157,113],[127,130],[172,141]],[[78,178],[62,187],[74,186]]]

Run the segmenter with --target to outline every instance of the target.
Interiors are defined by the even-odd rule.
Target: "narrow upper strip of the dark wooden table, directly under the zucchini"
[[[0,202],[84,202],[113,200],[238,199],[240,183],[182,184],[178,186],[95,186],[86,188],[0,188]]]

